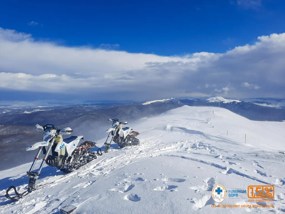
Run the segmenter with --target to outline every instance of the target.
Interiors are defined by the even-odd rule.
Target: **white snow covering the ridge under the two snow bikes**
[[[4,194],[11,185],[23,192],[31,163],[1,171],[0,213],[59,214],[68,204],[77,207],[75,214],[284,213],[285,155],[280,152],[285,123],[251,121],[223,108],[183,106],[132,128],[140,132],[140,146],[113,144],[109,153],[66,175],[45,165],[37,181],[44,188],[18,202]],[[275,207],[212,208],[215,184],[226,189],[274,185],[274,202],[227,196],[221,204]]]

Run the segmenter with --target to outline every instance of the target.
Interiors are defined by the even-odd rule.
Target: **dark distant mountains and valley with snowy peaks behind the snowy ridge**
[[[83,135],[86,140],[95,141],[96,136],[98,139],[105,138],[105,130],[110,128],[109,118],[126,120],[132,126],[137,119],[158,115],[184,105],[215,106],[217,110],[220,106],[251,120],[285,121],[284,107],[272,108],[223,97],[197,100],[171,98],[123,104],[85,103],[67,106],[11,107],[9,112],[0,114],[0,148],[5,147],[0,150],[0,161],[3,163],[1,168],[17,166],[18,159],[23,162],[32,160],[33,152],[26,152],[25,148],[36,141],[41,141],[42,133],[36,134],[34,130],[37,123],[40,125],[50,123],[58,128],[71,127],[74,130],[73,135]],[[11,155],[14,157],[13,162],[7,162],[11,160]]]

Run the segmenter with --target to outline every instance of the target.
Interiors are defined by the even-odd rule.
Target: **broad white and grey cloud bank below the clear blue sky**
[[[159,56],[36,42],[31,34],[0,28],[0,47],[1,89],[116,100],[190,93],[283,97],[285,91],[285,33],[225,53]]]

